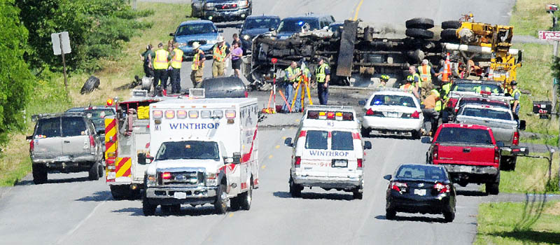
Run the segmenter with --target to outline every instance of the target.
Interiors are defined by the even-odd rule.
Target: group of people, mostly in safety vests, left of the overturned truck
[[[160,88],[166,91],[167,79],[170,77],[171,93],[180,93],[181,64],[183,59],[188,59],[188,55],[179,48],[179,43],[169,41],[167,50],[163,46],[163,43],[159,43],[158,50],[153,51],[152,45],[148,45],[146,51],[141,54],[141,59],[144,62],[144,73],[146,77],[153,78],[154,91],[158,91]],[[194,42],[192,48],[193,64],[190,66],[190,80],[193,82],[193,87],[197,87],[198,83],[202,81],[206,55],[200,49],[200,43]],[[228,59],[231,59],[235,75],[241,76],[241,57],[243,57],[243,50],[237,34],[233,35],[232,47],[225,43],[223,36],[218,36],[217,43],[212,48],[212,77],[225,75],[225,69],[228,68],[226,63]]]

